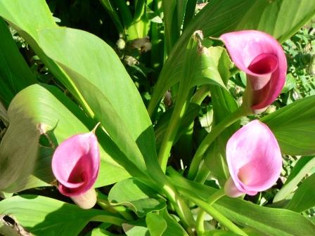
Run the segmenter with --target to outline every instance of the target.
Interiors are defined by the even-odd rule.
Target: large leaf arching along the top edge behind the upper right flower
[[[290,14],[293,12],[292,14]],[[309,0],[212,0],[200,11],[169,53],[148,111],[153,113],[162,95],[179,81],[177,77],[184,61],[184,48],[195,30],[205,37],[219,37],[225,32],[240,29],[259,29],[283,42],[293,35],[315,14],[315,1]],[[294,15],[294,18],[292,18]]]

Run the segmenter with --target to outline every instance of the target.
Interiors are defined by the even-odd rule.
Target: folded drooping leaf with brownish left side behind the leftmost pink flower
[[[72,135],[89,132],[95,125],[58,89],[38,84],[15,96],[8,108],[8,119],[10,126],[0,145],[0,189],[4,192],[18,192],[53,181],[51,153],[47,153],[51,151],[39,150],[41,133],[46,133],[53,143],[51,145],[56,146]],[[98,133],[101,169],[96,186],[127,178],[127,171],[113,160],[115,157],[123,158],[122,153],[105,133]]]

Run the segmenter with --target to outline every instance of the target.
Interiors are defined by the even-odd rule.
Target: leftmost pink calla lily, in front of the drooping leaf
[[[94,131],[77,134],[64,140],[53,154],[53,174],[59,182],[59,192],[82,208],[96,203],[93,185],[100,165],[98,141]]]

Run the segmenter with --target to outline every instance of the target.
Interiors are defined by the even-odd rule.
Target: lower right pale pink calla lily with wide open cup
[[[231,136],[226,145],[231,178],[224,186],[226,195],[256,195],[278,180],[282,157],[278,142],[266,124],[252,121]]]

